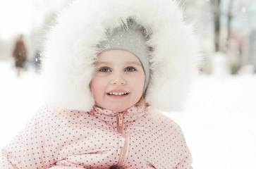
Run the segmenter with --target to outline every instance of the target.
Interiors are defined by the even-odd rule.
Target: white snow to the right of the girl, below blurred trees
[[[194,168],[255,168],[256,76],[200,77],[187,111],[171,116],[181,125]]]

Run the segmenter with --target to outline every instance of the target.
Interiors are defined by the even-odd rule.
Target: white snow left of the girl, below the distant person
[[[14,63],[0,61],[0,149],[11,142],[43,103],[39,73],[32,68],[28,70],[22,71],[18,78]]]

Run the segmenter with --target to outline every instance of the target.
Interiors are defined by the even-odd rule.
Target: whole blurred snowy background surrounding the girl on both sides
[[[0,0],[0,148],[44,103],[44,35],[68,1]],[[163,113],[181,125],[194,168],[255,169],[256,0],[177,1],[204,61],[185,111]]]

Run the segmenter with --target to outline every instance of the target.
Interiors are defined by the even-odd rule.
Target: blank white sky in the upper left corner
[[[19,33],[28,34],[63,2],[66,0],[0,0],[0,37],[8,39]]]

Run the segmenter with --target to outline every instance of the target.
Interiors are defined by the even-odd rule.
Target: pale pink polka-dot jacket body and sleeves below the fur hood
[[[2,149],[0,168],[192,168],[181,128],[149,112],[133,106],[119,120],[118,113],[98,107],[43,106]]]

